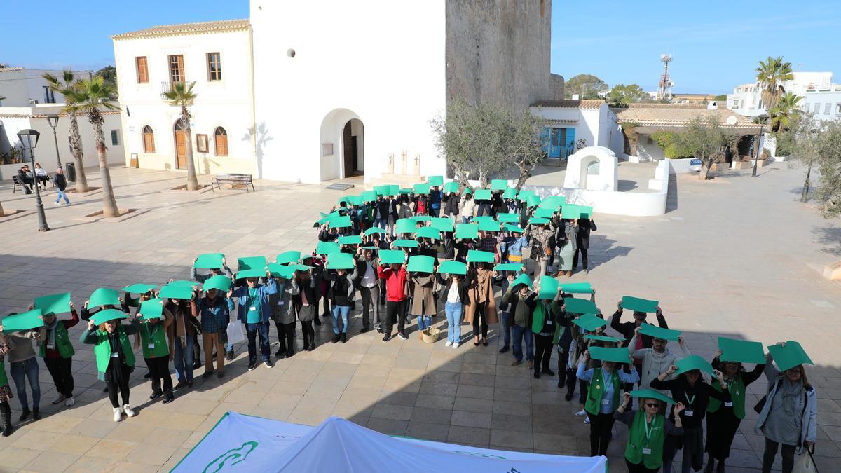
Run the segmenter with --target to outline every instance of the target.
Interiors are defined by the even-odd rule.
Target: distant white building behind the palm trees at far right
[[[785,92],[802,97],[801,109],[821,120],[841,120],[841,84],[833,83],[832,72],[793,72],[794,79],[783,82]],[[756,83],[746,83],[727,94],[727,109],[756,117],[767,113],[762,90]]]

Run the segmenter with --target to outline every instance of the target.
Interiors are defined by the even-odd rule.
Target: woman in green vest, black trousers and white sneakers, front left
[[[131,325],[120,325],[119,318],[124,314],[112,312],[114,315],[102,316],[99,326],[93,321],[87,321],[87,330],[82,332],[79,341],[93,345],[93,354],[97,361],[97,377],[108,385],[108,399],[114,408],[114,422],[127,417],[135,417],[135,411],[129,404],[129,378],[135,369],[135,353],[131,349],[129,336],[137,332]],[[113,318],[116,317],[116,318]],[[122,399],[122,404],[118,398]]]

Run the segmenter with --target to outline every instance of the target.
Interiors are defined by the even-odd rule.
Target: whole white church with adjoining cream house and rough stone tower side
[[[304,183],[447,173],[429,120],[450,100],[550,97],[549,1],[254,0],[250,16],[113,37],[126,162],[184,167],[161,99],[178,81],[196,82],[199,173]]]

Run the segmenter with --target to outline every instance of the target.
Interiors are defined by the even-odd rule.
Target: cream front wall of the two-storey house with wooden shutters
[[[219,52],[222,80],[209,82],[207,53]],[[192,115],[193,157],[197,173],[257,173],[254,141],[266,139],[255,130],[251,88],[251,33],[248,30],[170,35],[114,40],[114,58],[123,104],[124,161],[137,153],[140,167],[175,169],[174,125],[181,111],[161,98],[169,82],[168,56],[184,56],[184,75],[196,82]],[[146,56],[149,82],[138,83],[136,56]],[[151,126],[155,134],[155,152],[145,153],[143,127]],[[228,156],[215,156],[214,130],[225,128],[228,134]],[[197,135],[208,136],[208,152],[199,153]]]

